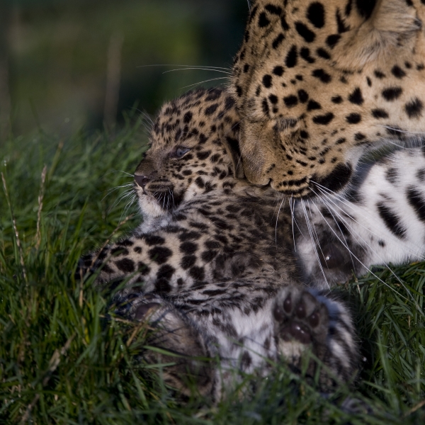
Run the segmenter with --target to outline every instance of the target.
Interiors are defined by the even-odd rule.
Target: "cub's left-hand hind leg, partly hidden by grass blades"
[[[146,349],[142,356],[151,364],[165,364],[164,380],[183,395],[193,387],[201,395],[214,393],[216,376],[213,348],[196,324],[158,295],[131,295],[123,300],[117,312],[128,319],[146,322],[152,329],[146,344],[159,351]],[[167,353],[165,353],[165,351]]]

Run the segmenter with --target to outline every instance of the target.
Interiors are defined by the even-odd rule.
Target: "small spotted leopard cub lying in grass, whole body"
[[[267,360],[283,360],[299,370],[310,350],[327,368],[310,361],[307,375],[329,390],[355,375],[350,314],[302,285],[288,208],[279,213],[273,190],[238,178],[238,132],[234,101],[221,89],[166,103],[135,172],[142,225],[81,266],[101,268],[103,288],[125,280],[115,295],[118,312],[149,322],[157,328],[149,344],[179,354],[164,377],[183,393],[190,374],[217,399],[235,368],[264,374]],[[214,357],[219,368],[196,360]]]

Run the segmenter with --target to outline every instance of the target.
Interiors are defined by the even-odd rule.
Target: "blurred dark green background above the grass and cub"
[[[226,77],[152,65],[231,67],[247,13],[246,0],[0,0],[0,140],[113,128]]]

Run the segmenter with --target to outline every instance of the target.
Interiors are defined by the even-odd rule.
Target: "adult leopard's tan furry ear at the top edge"
[[[359,4],[365,3],[368,7],[363,10]],[[357,18],[339,21],[343,31],[334,48],[336,67],[361,69],[368,62],[399,55],[400,49],[410,51],[410,42],[422,27],[413,1],[357,0],[356,4]]]

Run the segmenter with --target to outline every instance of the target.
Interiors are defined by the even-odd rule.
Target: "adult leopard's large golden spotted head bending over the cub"
[[[234,62],[246,177],[339,191],[368,149],[425,132],[424,0],[256,0]]]

